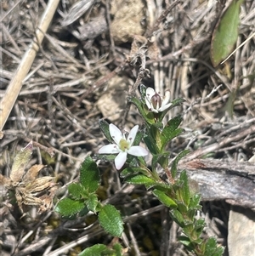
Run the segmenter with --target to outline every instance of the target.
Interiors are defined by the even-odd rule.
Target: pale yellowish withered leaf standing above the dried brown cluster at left
[[[14,183],[19,182],[25,174],[25,168],[30,160],[32,149],[33,145],[32,142],[30,142],[14,157],[14,163],[11,169],[11,173],[9,175],[9,178]]]

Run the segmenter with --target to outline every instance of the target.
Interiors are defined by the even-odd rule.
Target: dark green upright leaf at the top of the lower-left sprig
[[[99,187],[99,168],[90,156],[82,162],[80,169],[80,182],[89,193],[95,192]]]

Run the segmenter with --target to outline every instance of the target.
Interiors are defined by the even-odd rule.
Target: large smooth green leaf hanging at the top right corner
[[[238,37],[239,14],[242,2],[243,0],[233,0],[213,31],[211,43],[213,66],[217,66],[226,59],[235,46]]]

